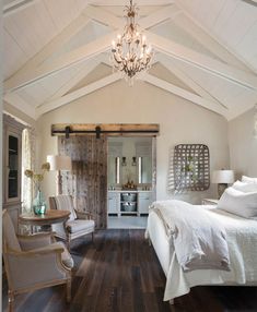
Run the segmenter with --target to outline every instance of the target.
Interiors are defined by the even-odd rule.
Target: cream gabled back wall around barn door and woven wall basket
[[[157,137],[157,199],[172,196],[167,192],[168,155],[179,143],[202,143],[210,148],[213,169],[229,165],[227,122],[207,109],[163,92],[141,81],[129,87],[121,81],[87,95],[72,104],[43,116],[38,122],[40,161],[57,153],[57,137],[50,136],[52,123],[160,123]],[[44,181],[46,195],[55,193],[55,175]],[[179,196],[200,203],[214,196],[215,185],[208,192]]]

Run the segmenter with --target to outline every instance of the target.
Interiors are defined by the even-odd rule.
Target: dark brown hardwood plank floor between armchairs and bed
[[[56,286],[15,297],[16,312],[249,312],[257,311],[257,287],[195,287],[163,302],[165,276],[143,230],[103,230],[72,242],[75,275],[72,301]],[[3,311],[7,311],[3,278]]]

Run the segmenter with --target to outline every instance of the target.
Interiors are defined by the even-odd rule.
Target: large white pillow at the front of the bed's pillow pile
[[[256,218],[257,192],[243,193],[227,188],[218,202],[218,208],[244,218]]]

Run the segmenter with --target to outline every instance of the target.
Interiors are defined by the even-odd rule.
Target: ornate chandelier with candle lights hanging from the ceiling
[[[147,45],[147,38],[138,29],[136,16],[138,8],[130,0],[130,4],[125,7],[127,24],[124,34],[117,36],[117,40],[112,43],[112,61],[115,71],[120,71],[130,85],[137,73],[145,71],[151,67],[153,51]]]

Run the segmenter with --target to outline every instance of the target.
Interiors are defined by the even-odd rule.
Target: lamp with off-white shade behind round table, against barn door
[[[71,158],[69,156],[48,155],[47,163],[50,164],[50,170],[57,171],[56,194],[62,194],[62,179],[60,171],[71,170]]]

